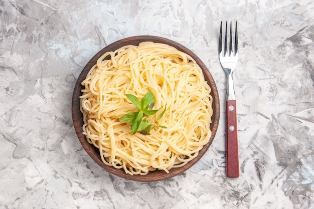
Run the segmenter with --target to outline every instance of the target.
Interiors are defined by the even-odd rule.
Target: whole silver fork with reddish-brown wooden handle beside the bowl
[[[230,22],[229,47],[227,41],[227,24],[224,49],[222,43],[222,22],[219,33],[219,61],[227,74],[226,93],[226,174],[228,177],[239,177],[239,154],[238,154],[238,133],[237,133],[237,111],[236,97],[233,87],[232,73],[238,62],[238,29],[235,25],[234,51],[232,44],[232,22]]]

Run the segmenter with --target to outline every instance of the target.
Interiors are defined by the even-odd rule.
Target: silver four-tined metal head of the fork
[[[220,23],[220,33],[219,33],[219,61],[222,68],[227,74],[231,74],[234,71],[235,66],[238,62],[238,27],[237,22],[235,25],[235,41],[234,48],[232,44],[232,22],[230,22],[230,36],[229,36],[229,47],[228,47],[228,35],[227,35],[227,24],[226,22],[226,32],[225,32],[225,42],[224,49],[222,43],[222,22]],[[234,49],[234,51],[233,51]]]

